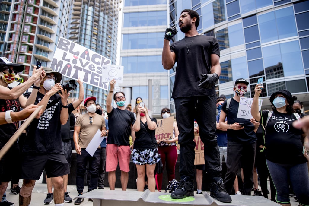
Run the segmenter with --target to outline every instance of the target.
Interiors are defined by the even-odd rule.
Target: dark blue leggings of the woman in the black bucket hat
[[[277,164],[266,160],[267,167],[277,192],[277,201],[281,204],[290,203],[290,187],[299,200],[299,204],[309,205],[309,175],[307,163],[298,165]]]

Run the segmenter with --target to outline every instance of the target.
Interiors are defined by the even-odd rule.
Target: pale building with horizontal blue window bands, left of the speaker
[[[152,103],[148,108],[154,115],[169,105],[168,72],[161,63],[167,26],[167,0],[124,0],[120,53],[124,81],[119,86],[132,108],[141,97],[146,107]]]

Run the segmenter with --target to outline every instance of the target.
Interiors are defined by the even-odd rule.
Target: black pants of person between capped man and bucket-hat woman
[[[260,184],[263,196],[268,199],[267,195],[267,177],[269,177],[269,184],[270,184],[270,197],[271,199],[275,199],[276,197],[276,189],[273,185],[273,180],[270,177],[267,165],[266,165],[266,158],[265,158],[265,150],[260,152],[262,148],[256,148],[256,155],[255,155],[255,166],[257,169],[257,173],[259,174]]]

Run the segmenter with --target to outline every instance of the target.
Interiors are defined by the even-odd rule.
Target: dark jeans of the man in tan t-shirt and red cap
[[[81,154],[77,154],[76,157],[76,189],[78,193],[83,193],[84,189],[84,176],[87,168],[87,163],[89,162],[89,172],[90,172],[90,187],[88,191],[94,190],[98,185],[99,178],[99,166],[101,158],[101,149],[97,149],[93,156],[82,148]]]

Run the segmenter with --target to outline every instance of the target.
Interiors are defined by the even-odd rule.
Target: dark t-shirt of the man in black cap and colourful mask
[[[226,113],[227,124],[244,123],[245,128],[239,130],[228,129],[227,130],[227,140],[235,142],[256,142],[256,136],[254,130],[254,125],[249,119],[237,118],[239,102],[231,98],[231,103],[228,111],[226,111],[226,101],[222,104],[222,111]]]

